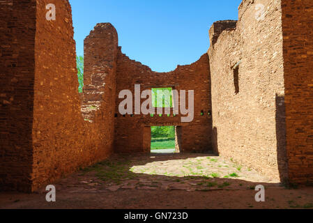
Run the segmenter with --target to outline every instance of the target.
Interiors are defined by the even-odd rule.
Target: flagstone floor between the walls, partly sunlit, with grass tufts
[[[279,184],[257,171],[215,155],[151,154],[114,155],[60,180],[61,190],[236,190],[255,183]]]

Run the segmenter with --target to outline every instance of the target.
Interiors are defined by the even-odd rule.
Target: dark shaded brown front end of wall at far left
[[[0,190],[31,187],[36,1],[0,2]]]

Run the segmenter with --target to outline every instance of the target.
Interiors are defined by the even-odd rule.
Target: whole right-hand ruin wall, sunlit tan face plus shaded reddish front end
[[[261,20],[258,3],[266,9]],[[231,21],[213,24],[208,50],[215,149],[274,180],[309,185],[312,8],[309,0],[245,0],[234,27]]]

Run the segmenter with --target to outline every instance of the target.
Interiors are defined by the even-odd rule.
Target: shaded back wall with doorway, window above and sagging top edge
[[[181,115],[173,116],[173,109],[168,117],[155,114],[119,114],[119,92],[124,89],[135,95],[135,84],[140,84],[141,92],[152,88],[172,87],[180,90],[194,90],[194,120],[181,123]],[[147,66],[130,60],[119,52],[116,72],[116,123],[114,151],[119,153],[150,152],[150,126],[181,126],[181,152],[201,152],[211,150],[211,86],[208,55],[201,56],[199,61],[188,66],[178,66],[172,72],[153,72]],[[146,99],[142,99],[141,103]],[[133,99],[134,103],[135,99]],[[204,111],[204,116],[201,116]],[[133,110],[133,112],[135,112]],[[156,109],[155,109],[156,113]]]

